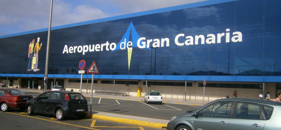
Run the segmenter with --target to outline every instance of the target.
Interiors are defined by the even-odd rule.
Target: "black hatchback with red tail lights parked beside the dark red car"
[[[51,114],[63,120],[67,116],[84,118],[88,114],[86,98],[73,91],[47,91],[27,101],[28,115]]]

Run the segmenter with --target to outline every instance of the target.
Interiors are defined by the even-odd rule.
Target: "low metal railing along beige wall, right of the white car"
[[[198,100],[203,101],[203,95],[199,94],[172,94],[172,93],[162,93],[163,99],[176,99],[176,100]],[[222,96],[216,96],[216,95],[204,95],[204,101],[214,101],[217,99],[222,99]]]

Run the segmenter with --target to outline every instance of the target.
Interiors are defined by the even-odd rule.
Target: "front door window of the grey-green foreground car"
[[[200,117],[227,118],[233,102],[215,102],[198,112]]]

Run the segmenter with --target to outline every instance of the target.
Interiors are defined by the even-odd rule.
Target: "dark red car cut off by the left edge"
[[[32,95],[26,95],[18,89],[0,88],[1,111],[6,112],[10,108],[25,110],[26,101],[32,98]]]

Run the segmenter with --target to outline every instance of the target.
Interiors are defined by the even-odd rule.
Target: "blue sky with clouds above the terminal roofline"
[[[53,0],[51,26],[205,0]],[[49,27],[51,0],[1,0],[0,36]]]

